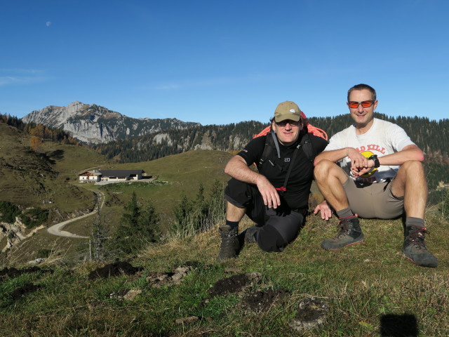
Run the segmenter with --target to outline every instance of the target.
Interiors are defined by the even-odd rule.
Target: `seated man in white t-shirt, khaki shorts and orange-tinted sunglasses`
[[[354,124],[330,138],[315,158],[316,183],[340,218],[337,236],[321,247],[336,250],[363,242],[358,216],[391,219],[405,212],[403,255],[417,265],[437,267],[424,243],[424,154],[401,127],[374,118],[377,99],[370,86],[350,88],[347,105]]]

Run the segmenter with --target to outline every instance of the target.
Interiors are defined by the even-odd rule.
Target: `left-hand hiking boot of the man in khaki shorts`
[[[364,241],[363,233],[356,216],[350,216],[349,218],[340,220],[338,229],[338,233],[335,237],[326,239],[321,243],[322,249],[326,249],[326,251],[336,251],[344,246],[361,244]]]

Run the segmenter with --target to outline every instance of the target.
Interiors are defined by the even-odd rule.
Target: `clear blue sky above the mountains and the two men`
[[[447,0],[15,0],[0,7],[0,112],[75,100],[134,118],[268,121],[295,101],[346,114],[449,115]]]

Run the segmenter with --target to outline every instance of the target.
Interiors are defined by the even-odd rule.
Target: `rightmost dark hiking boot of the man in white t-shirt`
[[[424,234],[430,234],[427,228],[419,226],[406,227],[406,239],[402,248],[403,256],[422,267],[438,267],[438,260],[427,250]]]

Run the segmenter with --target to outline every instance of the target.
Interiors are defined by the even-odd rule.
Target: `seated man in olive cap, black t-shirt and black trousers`
[[[280,103],[271,121],[271,133],[251,140],[226,165],[232,179],[225,189],[220,260],[236,257],[244,242],[257,243],[264,251],[283,251],[297,236],[307,213],[314,157],[327,141],[307,133],[300,108],[293,102]],[[253,163],[258,172],[250,169]],[[238,237],[245,214],[257,226]],[[321,205],[321,214],[330,217],[327,204]]]

